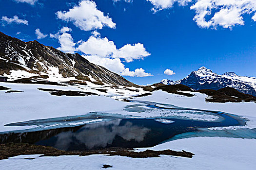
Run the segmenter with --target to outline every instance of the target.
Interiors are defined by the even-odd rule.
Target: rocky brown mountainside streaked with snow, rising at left
[[[76,77],[79,80],[134,86],[122,76],[90,63],[78,53],[64,53],[38,41],[23,42],[0,32],[0,75],[6,74],[13,79],[21,75],[46,74],[55,80]]]

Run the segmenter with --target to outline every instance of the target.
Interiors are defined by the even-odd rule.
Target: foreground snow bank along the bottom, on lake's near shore
[[[0,167],[1,170],[99,170],[104,164],[108,164],[113,166],[111,170],[255,170],[255,145],[255,139],[196,137],[139,149],[186,150],[195,153],[192,159],[166,155],[158,158],[20,155],[0,160]]]

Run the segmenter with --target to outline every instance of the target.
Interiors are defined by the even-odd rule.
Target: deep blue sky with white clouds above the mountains
[[[64,52],[79,52],[136,84],[178,80],[201,66],[219,74],[234,71],[256,77],[254,0],[241,6],[215,0],[220,5],[208,4],[204,11],[211,14],[203,20],[199,18],[202,0],[83,1],[89,6],[81,8],[85,3],[79,0],[0,0],[0,31]],[[76,11],[68,13],[70,9]],[[91,15],[102,27],[79,17]],[[94,49],[97,44],[100,52]],[[176,74],[166,75],[166,69]]]

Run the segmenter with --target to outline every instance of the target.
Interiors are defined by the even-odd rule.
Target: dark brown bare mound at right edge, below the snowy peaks
[[[198,92],[211,96],[211,98],[206,99],[207,102],[256,102],[255,96],[241,93],[232,87],[219,90],[202,89]]]

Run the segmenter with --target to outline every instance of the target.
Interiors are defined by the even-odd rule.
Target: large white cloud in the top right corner
[[[197,0],[191,9],[196,11],[194,20],[199,27],[232,29],[235,25],[244,25],[244,14],[255,15],[256,0]],[[206,19],[209,16],[213,17]]]

